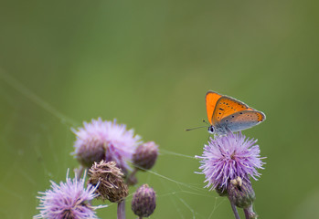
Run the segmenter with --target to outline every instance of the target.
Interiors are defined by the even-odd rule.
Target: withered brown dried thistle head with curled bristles
[[[97,198],[109,200],[112,203],[120,203],[128,195],[128,187],[123,182],[123,173],[116,167],[115,162],[94,162],[89,170],[88,183],[98,185]]]

